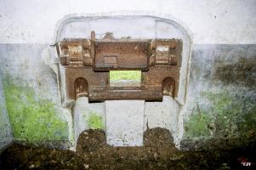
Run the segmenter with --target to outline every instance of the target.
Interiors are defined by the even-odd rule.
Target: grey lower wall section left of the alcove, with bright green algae
[[[4,99],[14,140],[40,144],[60,141],[61,147],[68,148],[71,113],[61,107],[55,73],[42,58],[47,46],[0,45]]]

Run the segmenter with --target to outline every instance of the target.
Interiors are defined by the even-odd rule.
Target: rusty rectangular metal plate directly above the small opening
[[[94,71],[145,71],[148,48],[148,42],[95,42]]]

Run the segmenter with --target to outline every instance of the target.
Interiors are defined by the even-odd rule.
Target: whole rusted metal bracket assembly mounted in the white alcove
[[[68,99],[88,96],[89,101],[109,99],[162,100],[177,97],[182,41],[179,39],[65,39],[56,44],[65,67]],[[112,86],[110,71],[141,71],[139,85]]]

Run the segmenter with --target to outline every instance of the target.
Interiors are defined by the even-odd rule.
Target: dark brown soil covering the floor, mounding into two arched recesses
[[[76,152],[12,144],[0,156],[0,169],[256,169],[255,148],[181,151],[162,128],[147,130],[144,143],[112,147],[104,131],[88,130],[81,133]]]

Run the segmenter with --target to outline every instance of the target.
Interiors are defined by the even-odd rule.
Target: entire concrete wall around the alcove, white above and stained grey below
[[[177,127],[179,135],[183,139],[255,135],[255,1],[3,0],[0,5],[4,7],[0,12],[0,91],[4,98],[0,100],[6,103],[14,140],[50,141],[62,148],[74,144],[75,116],[60,104],[56,60],[47,48],[56,41],[63,20],[82,15],[155,15],[177,21],[193,42],[190,84],[179,115],[184,126],[182,121]],[[161,105],[173,111],[169,105]],[[171,123],[161,123],[163,119],[172,122],[173,115],[163,114],[155,122],[154,114],[145,115],[152,117],[150,127],[174,129]]]

